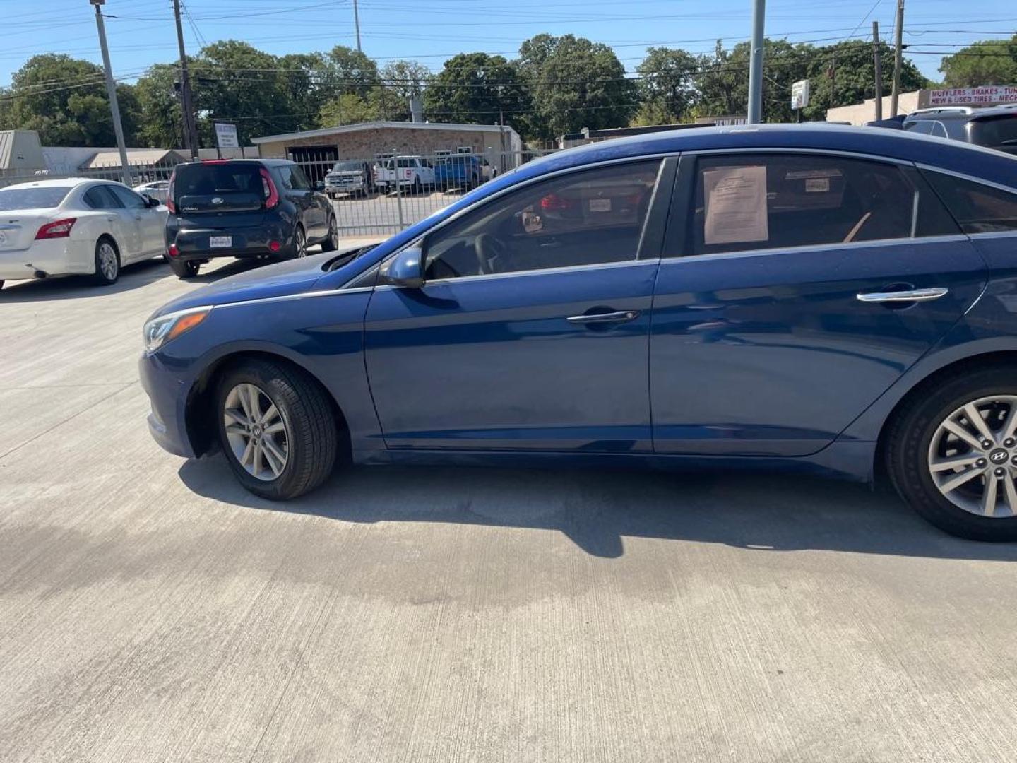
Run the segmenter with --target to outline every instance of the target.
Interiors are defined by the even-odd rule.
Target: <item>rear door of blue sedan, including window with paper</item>
[[[654,302],[654,448],[800,456],[963,315],[983,260],[914,168],[825,155],[682,160]]]

